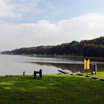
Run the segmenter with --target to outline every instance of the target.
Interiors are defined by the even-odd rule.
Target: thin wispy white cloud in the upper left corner
[[[0,17],[15,19],[41,14],[39,3],[40,0],[0,0]]]

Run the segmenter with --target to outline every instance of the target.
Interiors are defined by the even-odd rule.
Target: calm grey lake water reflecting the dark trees
[[[95,63],[95,62],[91,62]],[[104,71],[104,63],[96,62],[98,71]],[[28,57],[19,55],[0,55],[0,75],[32,75],[34,71],[43,70],[43,74],[57,74],[58,70],[70,73],[83,72],[83,61],[60,58]]]

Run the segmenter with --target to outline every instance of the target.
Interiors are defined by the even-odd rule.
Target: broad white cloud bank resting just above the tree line
[[[104,14],[92,13],[62,20],[56,24],[46,20],[39,20],[36,23],[1,23],[1,50],[55,45],[104,36],[103,18]]]

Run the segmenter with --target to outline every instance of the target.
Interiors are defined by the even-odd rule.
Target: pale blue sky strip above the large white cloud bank
[[[11,3],[23,4],[22,0],[11,0]],[[28,6],[33,0],[24,0]],[[34,0],[35,1],[35,0]],[[42,11],[41,13],[33,14],[33,11],[23,12],[16,8],[15,11],[22,14],[21,18],[4,18],[5,21],[13,23],[32,23],[41,19],[51,22],[58,22],[64,19],[78,17],[87,13],[104,13],[104,0],[37,0],[37,5],[34,8]],[[31,3],[30,3],[31,6]],[[34,11],[35,12],[35,11]]]

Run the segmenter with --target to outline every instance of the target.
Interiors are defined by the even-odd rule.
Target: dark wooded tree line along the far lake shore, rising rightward
[[[56,46],[37,46],[4,51],[2,54],[37,54],[37,55],[80,55],[104,57],[104,37],[92,40],[72,41]]]

